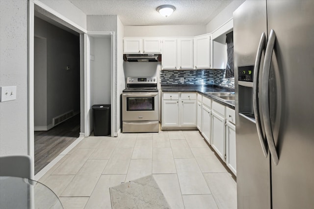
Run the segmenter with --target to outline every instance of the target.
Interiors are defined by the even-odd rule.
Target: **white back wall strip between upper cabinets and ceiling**
[[[206,33],[205,25],[124,26],[125,37],[191,37]]]

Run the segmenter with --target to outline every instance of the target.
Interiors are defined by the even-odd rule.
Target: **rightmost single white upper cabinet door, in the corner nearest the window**
[[[210,68],[210,35],[194,39],[194,65],[195,69]]]

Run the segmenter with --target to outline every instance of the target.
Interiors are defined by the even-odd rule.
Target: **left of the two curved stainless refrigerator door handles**
[[[268,154],[268,147],[267,142],[265,139],[265,135],[262,131],[262,122],[260,118],[260,108],[259,108],[259,75],[260,75],[260,66],[261,66],[261,59],[262,59],[262,52],[266,49],[266,35],[263,32],[261,35],[261,40],[259,47],[257,49],[256,59],[255,59],[255,66],[254,66],[254,75],[253,75],[253,108],[254,108],[254,116],[256,121],[256,128],[257,133],[260,139],[260,143],[262,146],[262,151],[265,157]]]

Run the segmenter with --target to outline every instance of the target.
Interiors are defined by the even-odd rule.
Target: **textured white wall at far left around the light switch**
[[[0,156],[27,155],[27,0],[0,0],[0,86],[17,86],[0,102]]]

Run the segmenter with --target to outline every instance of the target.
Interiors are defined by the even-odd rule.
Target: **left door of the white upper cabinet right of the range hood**
[[[162,69],[177,69],[177,39],[164,39],[162,44]]]

